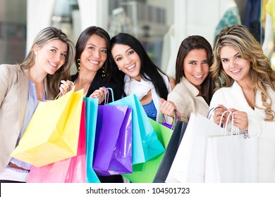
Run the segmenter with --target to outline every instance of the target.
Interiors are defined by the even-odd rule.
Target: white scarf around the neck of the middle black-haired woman
[[[150,81],[141,79],[140,82],[132,79],[129,75],[124,76],[124,92],[126,96],[135,94],[141,100],[148,92],[154,89],[154,85]]]

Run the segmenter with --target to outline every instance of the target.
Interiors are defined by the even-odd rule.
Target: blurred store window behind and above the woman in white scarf
[[[109,0],[110,36],[118,32],[132,34],[140,40],[152,61],[166,72],[170,48],[169,28],[173,27],[173,1],[125,1]],[[169,45],[169,44],[168,44]],[[166,56],[166,54],[168,56]]]

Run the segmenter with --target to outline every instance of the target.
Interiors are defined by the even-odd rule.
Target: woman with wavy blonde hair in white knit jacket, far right
[[[234,126],[259,137],[259,182],[275,182],[275,72],[245,26],[216,36],[210,72],[218,84],[210,110],[219,107],[212,119],[219,124],[225,110],[235,111]]]

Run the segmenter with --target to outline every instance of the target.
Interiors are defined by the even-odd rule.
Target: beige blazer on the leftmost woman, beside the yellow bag
[[[0,172],[11,160],[27,107],[27,70],[0,65]]]

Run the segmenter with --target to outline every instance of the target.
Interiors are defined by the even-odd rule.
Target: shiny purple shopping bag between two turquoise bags
[[[98,106],[93,169],[101,176],[133,172],[130,107]]]

